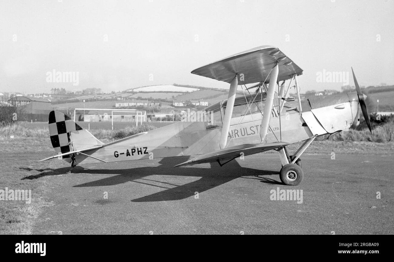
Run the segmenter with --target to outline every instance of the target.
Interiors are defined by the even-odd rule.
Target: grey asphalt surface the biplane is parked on
[[[282,185],[277,154],[173,168],[185,158],[91,164],[45,178],[34,234],[394,234],[392,155],[303,155]],[[303,202],[271,190],[303,190]],[[105,199],[105,192],[108,199]],[[198,195],[197,195],[198,192]],[[377,199],[380,192],[381,199]]]

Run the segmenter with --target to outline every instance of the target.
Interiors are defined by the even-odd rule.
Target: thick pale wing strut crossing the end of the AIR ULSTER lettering
[[[278,79],[278,74],[279,74],[279,66],[278,63],[276,63],[275,66],[272,68],[271,77],[269,77],[266,105],[264,106],[264,113],[261,120],[260,137],[262,142],[264,141],[268,133],[269,120],[271,119],[273,97],[275,94],[275,87]]]

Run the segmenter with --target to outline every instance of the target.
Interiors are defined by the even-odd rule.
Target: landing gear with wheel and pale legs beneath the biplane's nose
[[[299,157],[315,138],[316,137],[311,137],[305,140],[294,155],[289,156],[286,147],[278,150],[279,157],[282,162],[282,169],[279,177],[283,184],[296,186],[301,183],[304,177],[304,172],[302,170],[301,159]]]

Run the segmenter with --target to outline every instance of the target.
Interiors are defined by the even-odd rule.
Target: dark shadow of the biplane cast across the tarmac
[[[96,181],[75,185],[74,187],[90,187],[90,186],[111,186],[119,185],[126,182],[135,182],[145,185],[155,186],[163,188],[160,192],[132,199],[132,202],[152,202],[152,201],[171,201],[185,199],[190,196],[194,196],[195,192],[204,192],[210,190],[216,186],[223,185],[234,179],[243,178],[254,178],[255,176],[264,183],[269,184],[281,184],[274,179],[268,179],[261,176],[266,175],[277,175],[277,171],[271,170],[258,170],[254,168],[245,168],[240,166],[237,161],[231,161],[224,166],[219,164],[211,163],[211,168],[201,168],[199,166],[180,167],[174,168],[173,166],[182,162],[182,157],[177,158],[165,158],[159,161],[160,166],[145,166],[141,168],[127,168],[127,169],[89,169],[76,166],[72,173],[91,173],[91,174],[117,174],[112,177],[106,177]],[[42,172],[38,175],[25,177],[24,179],[35,179],[46,175],[57,175],[64,174],[69,171],[68,168],[59,168],[56,170],[50,170],[50,172]],[[46,171],[46,170],[45,170]],[[158,181],[154,179],[146,179],[150,175],[166,175],[166,176],[190,176],[190,177],[201,177],[190,183],[177,185],[176,183],[168,183],[167,181]],[[136,181],[138,180],[138,181]],[[279,177],[278,177],[279,180]],[[159,184],[159,185],[157,185]]]

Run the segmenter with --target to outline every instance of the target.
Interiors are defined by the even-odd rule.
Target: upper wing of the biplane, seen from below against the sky
[[[250,84],[265,81],[277,61],[279,61],[278,81],[290,79],[294,74],[299,76],[303,72],[279,48],[259,46],[202,66],[191,73],[227,83],[230,83],[238,73],[244,75],[244,80],[239,82],[240,85]]]

